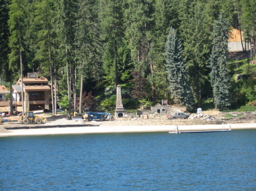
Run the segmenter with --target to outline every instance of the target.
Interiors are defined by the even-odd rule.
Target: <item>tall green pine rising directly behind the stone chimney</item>
[[[98,17],[104,41],[105,82],[117,86],[119,83],[118,62],[121,60],[118,49],[123,41],[122,1],[100,0],[99,5]]]

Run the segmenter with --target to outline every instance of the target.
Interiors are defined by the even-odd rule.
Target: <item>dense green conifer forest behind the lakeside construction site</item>
[[[216,108],[227,109],[237,104],[232,96],[237,96],[238,87],[230,82],[226,46],[216,37],[224,35],[226,42],[228,28],[241,29],[247,42],[243,48],[248,49],[249,42],[255,42],[255,4],[253,0],[1,0],[2,81],[11,84],[28,72],[44,75],[58,90],[52,90],[53,113],[57,101],[69,113],[71,108],[81,111],[88,106],[111,109],[117,84],[126,108],[168,99],[192,109],[212,99]],[[220,57],[224,60],[217,62]],[[226,86],[216,85],[223,80]],[[220,93],[224,89],[228,92]]]

